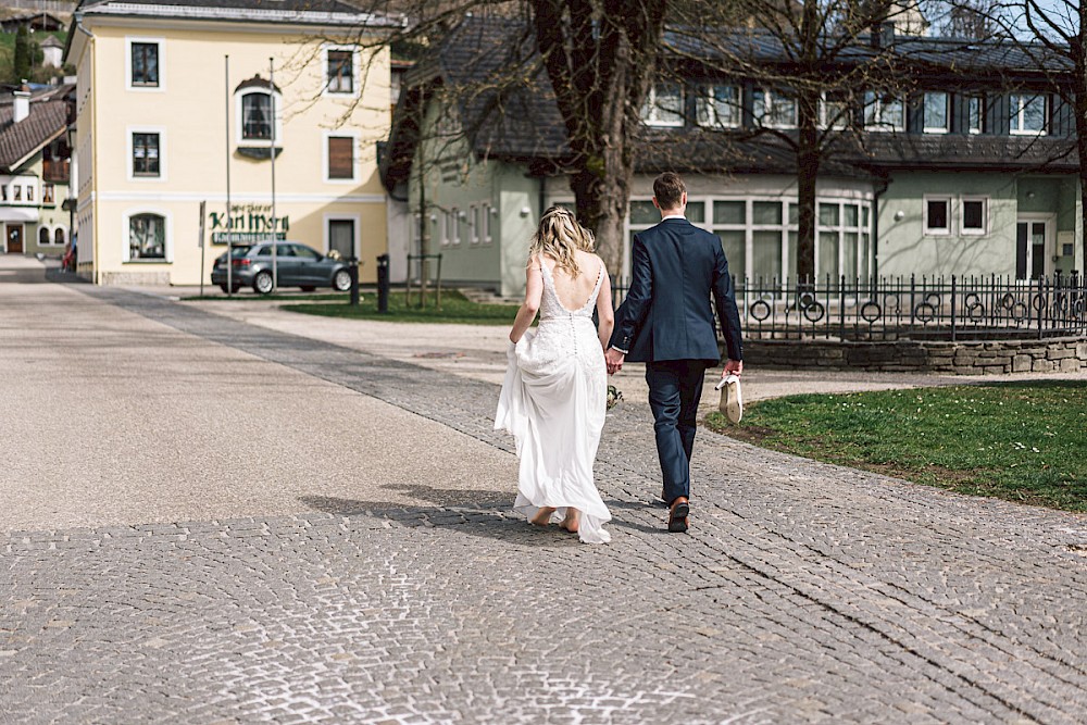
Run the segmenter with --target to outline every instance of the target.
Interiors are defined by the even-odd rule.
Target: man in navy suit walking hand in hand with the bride
[[[684,216],[687,189],[678,174],[657,177],[653,204],[661,223],[634,237],[630,291],[615,315],[605,359],[609,374],[627,360],[646,363],[669,530],[683,533],[702,380],[721,362],[711,293],[728,353],[722,377],[744,370],[740,316],[721,240]]]

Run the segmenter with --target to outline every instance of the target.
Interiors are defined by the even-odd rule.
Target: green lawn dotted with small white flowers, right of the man
[[[804,395],[745,408],[715,430],[749,442],[939,486],[1087,511],[1087,383],[1007,383]]]

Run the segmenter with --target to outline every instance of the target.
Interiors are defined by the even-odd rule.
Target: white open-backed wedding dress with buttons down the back
[[[510,343],[495,428],[509,430],[517,443],[514,509],[532,520],[539,509],[553,507],[551,521],[560,522],[573,507],[582,512],[582,541],[605,543],[611,535],[603,524],[611,514],[592,483],[608,409],[608,371],[592,324],[603,270],[588,301],[571,311],[559,301],[552,272],[540,266],[540,322],[535,333]]]

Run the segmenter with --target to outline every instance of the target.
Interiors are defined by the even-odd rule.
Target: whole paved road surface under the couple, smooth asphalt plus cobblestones
[[[580,546],[508,512],[482,375],[39,277],[0,263],[4,725],[1084,722],[1087,517],[702,434],[667,535],[632,400]]]

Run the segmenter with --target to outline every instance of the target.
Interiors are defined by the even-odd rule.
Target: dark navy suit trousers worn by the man
[[[664,500],[670,504],[680,496],[690,497],[690,454],[707,367],[704,360],[646,363],[657,455],[664,477]]]

